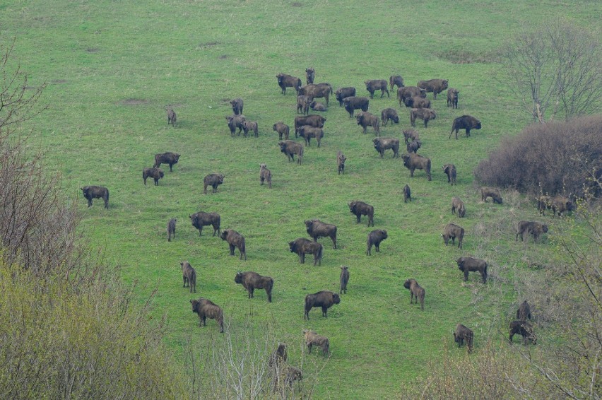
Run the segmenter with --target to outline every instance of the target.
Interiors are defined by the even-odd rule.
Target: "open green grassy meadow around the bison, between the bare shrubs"
[[[203,296],[223,307],[231,327],[250,323],[290,343],[293,365],[302,363],[302,329],[328,336],[330,360],[303,355],[306,365],[315,365],[307,370],[314,395],[375,399],[423,375],[429,361],[454,345],[451,331],[459,322],[475,332],[476,351],[488,339],[502,343],[507,336],[524,300],[517,273],[531,273],[530,262],[545,264],[553,247],[548,238],[538,245],[515,242],[513,227],[519,220],[545,220],[553,233],[555,222],[539,217],[515,192],[504,192],[501,206],[483,203],[473,182],[479,160],[530,122],[495,80],[502,68],[495,52],[529,23],[563,17],[592,26],[601,13],[596,1],[8,0],[0,4],[0,27],[4,39],[16,37],[12,61],[28,73],[28,84],[48,83],[42,95],[48,109],[18,129],[61,172],[66,196],[78,197],[81,228],[93,248],[122,266],[140,302],[157,290],[151,317],[166,315],[165,341],[178,363],[184,365],[187,351],[207,353],[223,338],[213,320],[198,327],[189,300]],[[324,112],[321,148],[312,141],[302,165],[288,163],[272,125],[285,122],[295,139],[296,95],[292,88],[281,95],[276,74],[305,83],[309,66],[317,83],[355,86],[365,96],[367,79],[399,74],[406,86],[449,79],[460,91],[459,109],[446,107],[446,93],[437,100],[430,93],[437,119],[427,129],[421,121],[416,127],[423,142],[418,153],[432,160],[432,182],[420,170],[411,178],[391,151],[379,158],[372,129],[362,134],[334,95]],[[237,97],[244,99],[247,119],[258,122],[259,138],[230,138],[225,116]],[[166,124],[168,105],[177,112],[175,128]],[[400,123],[381,127],[381,136],[403,142],[409,112],[400,109],[395,93],[380,98],[377,92],[369,111],[380,116],[386,107],[398,110]],[[464,131],[459,140],[448,139],[451,121],[462,114],[480,119],[483,129],[468,139]],[[344,175],[336,173],[338,150],[348,158]],[[173,172],[162,166],[158,187],[152,180],[144,186],[142,168],[167,151],[180,153],[179,163]],[[260,163],[271,169],[271,190],[259,186]],[[458,170],[454,187],[442,172],[447,163]],[[205,195],[203,177],[211,172],[223,173],[224,184]],[[100,199],[87,208],[79,188],[90,184],[110,190],[109,210]],[[408,204],[405,184],[413,194]],[[466,218],[451,215],[452,196],[464,200]],[[355,223],[347,205],[352,200],[374,206],[374,228],[365,217]],[[188,218],[196,211],[215,211],[221,229],[244,235],[247,261],[238,251],[229,257],[227,243],[212,237],[211,227],[199,237]],[[177,232],[167,242],[170,218],[177,218]],[[338,227],[338,249],[328,238],[319,240],[324,258],[315,267],[312,257],[299,264],[288,250],[289,241],[307,237],[304,220],[311,218]],[[464,249],[443,245],[439,234],[449,222],[465,228]],[[366,237],[373,229],[387,230],[389,239],[368,257]],[[462,282],[455,262],[462,255],[489,261],[487,285],[472,273]],[[196,269],[196,295],[182,288],[183,260]],[[350,271],[341,304],[327,319],[314,309],[304,321],[305,295],[338,292],[341,265]],[[273,302],[263,290],[247,299],[234,283],[237,271],[272,276]],[[425,288],[424,311],[409,305],[406,278]],[[538,336],[545,338],[545,329]],[[553,343],[544,339],[538,346]]]

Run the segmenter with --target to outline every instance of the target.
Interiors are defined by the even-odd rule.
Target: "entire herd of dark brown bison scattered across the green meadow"
[[[368,112],[370,105],[370,99],[374,98],[374,92],[380,90],[382,98],[386,93],[389,97],[389,90],[393,91],[397,87],[397,100],[399,100],[400,107],[408,107],[410,115],[410,123],[412,127],[415,127],[415,120],[422,119],[425,129],[431,119],[436,119],[437,114],[435,110],[431,108],[432,102],[427,99],[427,93],[433,94],[433,100],[437,99],[437,94],[447,90],[447,107],[457,109],[459,100],[459,90],[455,88],[448,88],[448,81],[444,79],[431,79],[430,81],[419,81],[417,86],[404,86],[403,78],[401,76],[391,76],[389,82],[384,79],[365,81],[366,90],[370,93],[370,99],[367,97],[356,96],[356,90],[353,87],[344,87],[333,90],[333,87],[329,83],[317,83],[314,84],[315,70],[313,68],[306,69],[306,82],[305,86],[302,86],[300,78],[295,76],[286,75],[284,73],[278,73],[276,76],[278,80],[278,86],[281,88],[281,93],[286,94],[287,88],[293,88],[297,93],[297,114],[302,113],[302,116],[297,116],[294,119],[294,132],[295,138],[298,136],[302,137],[305,141],[305,146],[311,146],[311,139],[315,139],[317,146],[320,147],[321,140],[324,138],[324,124],[326,118],[318,114],[309,114],[309,110],[323,112],[327,110],[329,105],[329,96],[334,94],[336,100],[338,100],[339,107],[344,107],[349,113],[349,117],[354,116],[355,110],[360,110],[358,114],[355,114],[357,124],[362,127],[362,131],[365,134],[367,127],[372,127],[376,137],[372,140],[374,149],[379,153],[380,157],[384,156],[386,150],[393,151],[393,157],[399,158],[399,144],[400,139],[389,137],[380,137],[380,126],[389,124],[399,124],[399,115],[393,108],[386,108],[382,110],[380,118]],[[316,99],[324,98],[326,104],[317,102]],[[242,114],[244,108],[244,102],[242,98],[236,98],[230,101],[232,105],[232,115],[225,117],[232,137],[236,136],[238,129],[238,135],[242,132],[244,136],[249,135],[249,131],[254,134],[255,137],[259,135],[258,124],[256,122],[248,121]],[[176,113],[171,108],[167,110],[167,124],[172,124],[175,127],[177,122]],[[466,137],[471,136],[471,129],[480,129],[481,123],[475,117],[471,115],[462,115],[457,117],[451,124],[451,131],[449,138],[451,139],[452,134],[456,134],[458,139],[458,131],[464,129],[466,131]],[[290,140],[290,127],[284,122],[276,122],[272,127],[273,131],[278,133],[278,146],[281,152],[284,153],[288,161],[295,161],[295,155],[297,156],[297,163],[302,163],[304,146],[302,143]],[[406,144],[407,153],[401,155],[403,165],[410,171],[410,176],[413,177],[415,170],[423,170],[427,176],[427,180],[431,180],[431,160],[417,153],[418,149],[421,148],[422,142],[418,136],[418,132],[415,129],[406,129],[403,131],[403,139]],[[338,174],[345,173],[345,161],[346,156],[343,155],[342,151],[338,151],[336,154],[336,165]],[[159,180],[162,179],[165,174],[160,168],[162,164],[170,166],[170,172],[172,172],[173,165],[177,164],[179,160],[179,154],[177,153],[159,153],[155,155],[155,163],[153,167],[145,167],[142,172],[143,183],[146,184],[148,178],[152,178],[155,185],[159,184]],[[444,174],[447,175],[447,182],[449,184],[456,184],[456,167],[453,164],[446,164],[442,167]],[[223,184],[223,174],[210,174],[203,179],[203,192],[207,193],[207,187],[211,187],[213,193],[218,192],[218,186]],[[266,183],[268,188],[272,188],[272,173],[266,166],[266,164],[260,164],[259,170],[259,182],[261,185]],[[109,191],[106,187],[101,186],[87,186],[81,188],[83,196],[88,200],[88,207],[92,206],[93,199],[102,199],[105,202],[105,208],[109,208]],[[499,189],[492,187],[482,187],[480,189],[481,201],[487,201],[488,198],[492,199],[493,204],[502,204],[502,194]],[[403,187],[403,200],[412,201],[411,189],[406,184]],[[374,226],[374,207],[363,201],[350,201],[348,204],[350,213],[355,215],[357,223],[360,223],[362,216],[367,217],[367,225]],[[541,215],[545,215],[545,211],[551,209],[553,215],[561,216],[565,211],[572,211],[574,205],[572,201],[569,201],[564,196],[540,196],[538,199],[538,210]],[[453,197],[451,199],[451,213],[459,218],[464,218],[466,208],[464,202],[459,197]],[[189,216],[191,224],[194,228],[199,230],[199,236],[203,233],[203,226],[211,225],[213,228],[213,236],[218,236],[225,240],[230,247],[230,255],[235,254],[235,249],[240,252],[240,259],[247,259],[247,252],[244,242],[244,236],[235,230],[227,229],[220,232],[220,215],[215,212],[207,213],[199,211]],[[167,223],[167,240],[171,241],[172,237],[175,237],[177,220],[175,218],[170,219]],[[311,254],[314,259],[314,266],[321,264],[321,259],[324,253],[324,247],[318,242],[320,237],[329,237],[332,240],[333,247],[336,249],[336,235],[337,227],[329,223],[324,223],[321,220],[306,220],[305,225],[307,227],[307,234],[312,240],[308,240],[305,237],[299,237],[292,242],[289,242],[290,252],[296,253],[299,257],[301,264],[305,262],[305,255]],[[532,235],[533,240],[537,242],[538,238],[548,232],[547,225],[534,221],[521,221],[517,227],[516,240],[521,237],[521,240],[525,240],[524,235]],[[464,241],[464,228],[454,223],[448,223],[441,234],[445,245],[451,240],[451,245],[456,244],[458,241],[458,247],[462,248]],[[370,256],[372,254],[372,247],[376,252],[379,252],[380,245],[383,240],[387,238],[386,230],[375,229],[372,230],[367,236],[367,248],[366,254]],[[196,293],[196,271],[189,264],[188,261],[182,261],[182,278],[184,287],[189,287],[190,293]],[[488,263],[483,259],[476,259],[473,257],[460,257],[456,260],[458,269],[464,273],[464,281],[468,280],[469,272],[478,272],[482,278],[483,283],[487,281],[487,268]],[[247,290],[249,298],[253,298],[255,289],[266,290],[267,300],[271,302],[273,279],[269,276],[261,276],[259,273],[253,271],[238,272],[234,279],[235,283],[240,283],[244,289]],[[333,305],[339,304],[341,298],[339,294],[347,293],[347,286],[349,281],[349,270],[347,266],[341,266],[341,288],[340,293],[333,293],[329,290],[322,290],[318,293],[308,294],[305,296],[304,305],[304,319],[309,319],[309,311],[314,307],[321,308],[322,316],[326,317],[328,309]],[[410,290],[410,303],[415,302],[418,304],[420,301],[420,308],[424,310],[425,302],[425,289],[422,288],[415,279],[410,278],[403,286]],[[199,298],[199,300],[190,300],[192,305],[192,311],[199,315],[199,325],[206,324],[206,319],[215,319],[218,322],[220,331],[223,332],[223,311],[222,309],[206,298]],[[523,302],[519,310],[517,310],[517,320],[512,321],[509,324],[509,340],[512,342],[514,334],[519,334],[523,337],[524,343],[531,341],[536,343],[536,336],[533,333],[533,327],[526,319],[531,318],[531,311],[529,310],[529,304]],[[309,352],[312,350],[312,346],[317,346],[321,349],[324,355],[329,355],[329,339],[313,331],[303,331],[307,348]],[[466,341],[468,351],[473,348],[473,331],[468,329],[463,324],[458,324],[454,331],[454,341],[459,346]],[[279,378],[282,377],[288,384],[292,384],[294,380],[300,379],[302,373],[295,367],[287,365],[286,361],[286,348],[285,345],[281,344],[278,349],[274,351],[270,358],[271,367],[278,368]]]

